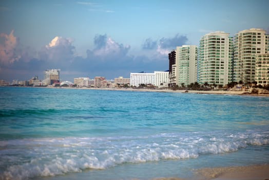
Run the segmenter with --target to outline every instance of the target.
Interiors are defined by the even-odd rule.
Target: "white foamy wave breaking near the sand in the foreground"
[[[269,144],[268,132],[185,133],[0,141],[0,179],[55,176],[124,163],[198,158]]]

